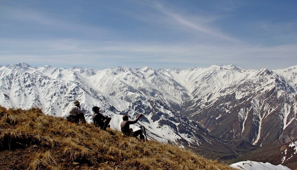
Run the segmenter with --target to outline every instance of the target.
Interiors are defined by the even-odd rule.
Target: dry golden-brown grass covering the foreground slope
[[[170,144],[140,143],[112,132],[90,124],[71,125],[37,108],[0,107],[0,150],[39,148],[23,160],[26,169],[232,169]]]

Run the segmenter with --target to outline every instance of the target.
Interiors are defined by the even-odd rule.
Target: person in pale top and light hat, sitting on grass
[[[85,116],[83,115],[83,111],[80,110],[79,101],[75,100],[73,102],[73,106],[69,109],[66,119],[67,121],[70,121],[70,122],[86,123],[86,119],[85,119]]]

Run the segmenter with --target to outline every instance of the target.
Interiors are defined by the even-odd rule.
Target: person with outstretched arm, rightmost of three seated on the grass
[[[123,121],[121,123],[121,132],[124,136],[130,136],[137,137],[140,136],[140,139],[144,140],[144,136],[142,134],[142,130],[139,129],[137,131],[132,131],[132,128],[130,128],[130,125],[136,123],[140,117],[142,117],[142,114],[139,114],[138,117],[135,120],[129,120],[129,117],[127,115],[123,116]]]

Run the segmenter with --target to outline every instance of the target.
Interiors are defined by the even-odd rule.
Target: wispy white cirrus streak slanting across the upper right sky
[[[214,28],[214,26],[210,26],[211,23],[222,17],[225,17],[226,15],[188,15],[181,12],[183,11],[183,9],[180,9],[178,7],[172,7],[172,5],[161,4],[160,2],[156,1],[142,1],[139,3],[151,7],[152,9],[158,11],[160,14],[163,15],[151,13],[148,15],[144,13],[145,16],[140,17],[139,15],[133,13],[132,15],[136,18],[148,21],[148,18],[152,17],[151,22],[158,22],[160,23],[160,25],[168,24],[168,28],[173,28],[173,26],[175,26],[179,30],[182,30],[184,32],[190,32],[193,35],[199,36],[201,34],[206,34],[206,38],[208,36],[211,38],[222,39],[225,41],[240,42],[239,39],[224,34],[222,31],[219,30],[219,28]],[[171,8],[169,8],[168,6],[170,6]]]

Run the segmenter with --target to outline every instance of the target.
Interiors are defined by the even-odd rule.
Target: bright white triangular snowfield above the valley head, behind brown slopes
[[[193,67],[188,70],[168,70],[172,77],[189,90],[192,96],[203,98],[204,96],[213,93],[219,94],[218,91],[230,85],[249,72],[249,70],[238,68],[234,65],[218,66],[212,65],[209,68]],[[198,84],[199,83],[199,84]],[[206,96],[208,97],[208,96]],[[207,100],[210,101],[217,96],[211,96]]]

